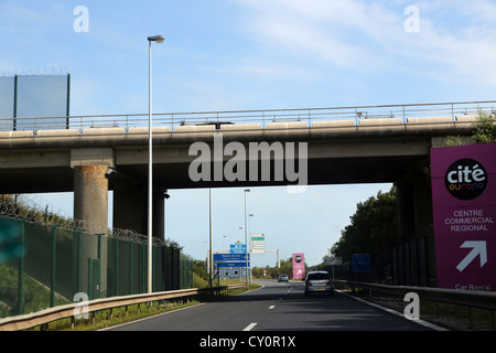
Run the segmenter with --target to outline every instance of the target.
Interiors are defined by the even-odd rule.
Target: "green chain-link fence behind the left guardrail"
[[[193,285],[192,260],[153,244],[152,290]],[[145,242],[0,217],[0,318],[88,299],[147,292]]]

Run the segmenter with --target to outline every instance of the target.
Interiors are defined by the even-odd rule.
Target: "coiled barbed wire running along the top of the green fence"
[[[43,207],[40,207],[36,203],[36,200],[28,199],[24,195],[2,195],[2,199],[0,200],[0,217],[22,220],[41,226],[57,226],[60,229],[69,232],[83,232],[87,234],[96,233],[93,232],[96,226],[91,222],[62,216],[61,213],[54,212],[53,208],[52,211],[48,211],[48,206],[43,210]],[[107,233],[104,235],[138,244],[148,243],[148,236],[132,229],[112,227],[107,228]],[[181,248],[179,244],[173,240],[161,240],[157,237],[152,237],[152,244],[155,246]]]

